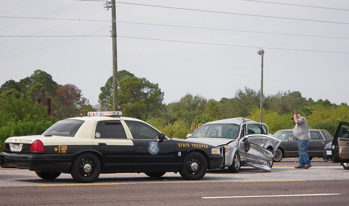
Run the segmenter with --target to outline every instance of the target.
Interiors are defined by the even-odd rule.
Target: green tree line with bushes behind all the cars
[[[164,92],[146,78],[121,70],[118,83],[118,110],[124,116],[150,123],[168,137],[185,138],[199,125],[210,121],[246,117],[258,122],[260,118],[260,91],[248,87],[238,89],[232,98],[219,101],[187,93],[166,105]],[[52,102],[50,115],[47,98]],[[58,120],[86,115],[88,111],[111,111],[112,77],[101,87],[98,99],[98,104],[91,105],[74,84],[59,85],[42,70],[34,71],[19,82],[8,80],[0,87],[0,143],[3,145],[11,136],[41,134]],[[298,91],[280,91],[263,99],[263,122],[272,134],[293,128],[291,117],[296,111],[307,118],[310,128],[326,129],[332,135],[339,122],[349,122],[347,103],[314,101],[302,97]]]

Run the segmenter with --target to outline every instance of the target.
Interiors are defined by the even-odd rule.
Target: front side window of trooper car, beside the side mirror
[[[128,120],[125,122],[131,131],[133,139],[157,139],[159,137],[158,131],[150,127],[148,124]]]

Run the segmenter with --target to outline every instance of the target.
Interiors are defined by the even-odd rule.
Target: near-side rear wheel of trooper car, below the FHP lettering
[[[96,155],[91,153],[82,153],[78,155],[73,163],[70,175],[77,182],[94,182],[101,174],[101,162]]]

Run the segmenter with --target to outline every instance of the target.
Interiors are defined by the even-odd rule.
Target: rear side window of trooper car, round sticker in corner
[[[126,139],[124,127],[118,120],[99,121],[96,125],[95,138]]]

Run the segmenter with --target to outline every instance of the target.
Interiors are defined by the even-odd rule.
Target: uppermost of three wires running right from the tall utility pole
[[[302,19],[302,18],[264,16],[264,15],[256,15],[256,14],[239,14],[239,13],[231,13],[231,12],[217,12],[217,11],[200,10],[200,9],[187,9],[187,8],[178,8],[178,7],[146,5],[146,4],[140,4],[140,3],[125,3],[125,2],[116,2],[116,3],[124,3],[124,4],[139,5],[139,6],[151,6],[151,7],[159,7],[159,8],[182,9],[182,10],[191,10],[191,11],[197,11],[197,12],[212,12],[212,13],[220,13],[220,14],[236,14],[236,15],[255,16],[255,17],[281,18],[281,19],[288,19],[288,20],[301,20],[301,21],[312,21],[312,22],[323,22],[323,23],[349,24],[349,23],[346,23],[346,22],[332,22],[332,21],[310,20],[310,19]]]

